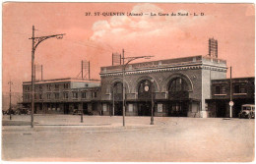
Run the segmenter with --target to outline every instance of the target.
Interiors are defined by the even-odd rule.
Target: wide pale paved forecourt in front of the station
[[[3,123],[9,116],[3,117]],[[30,116],[14,116],[28,123]],[[2,127],[8,161],[252,161],[254,120],[35,115],[30,126]],[[27,124],[27,125],[28,125]],[[23,124],[26,125],[26,124]]]

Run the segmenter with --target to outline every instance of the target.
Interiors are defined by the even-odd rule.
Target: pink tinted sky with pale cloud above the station
[[[86,12],[205,16],[87,17]],[[75,78],[85,59],[91,61],[92,78],[99,79],[100,67],[111,65],[111,53],[122,48],[126,56],[154,55],[152,60],[206,55],[209,37],[218,39],[219,58],[232,66],[233,77],[254,77],[254,12],[253,4],[5,3],[3,91],[8,91],[10,79],[15,91],[31,81],[32,25],[35,36],[66,33],[36,48],[35,63],[43,65],[44,79]]]

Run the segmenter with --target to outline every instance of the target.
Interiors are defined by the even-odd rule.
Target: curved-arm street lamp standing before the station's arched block
[[[151,57],[153,57],[153,56],[137,56],[137,57],[127,57],[127,58],[125,58],[124,57],[124,49],[123,49],[123,57],[121,58],[121,59],[123,59],[123,68],[122,68],[122,70],[123,70],[123,127],[125,127],[125,85],[124,85],[125,68],[130,62],[132,62],[136,59],[141,59],[141,58],[150,59]],[[126,63],[124,63],[125,59],[127,60]]]

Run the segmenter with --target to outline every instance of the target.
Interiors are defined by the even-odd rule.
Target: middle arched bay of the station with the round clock
[[[149,80],[139,82],[138,86],[138,116],[151,116],[153,83]]]

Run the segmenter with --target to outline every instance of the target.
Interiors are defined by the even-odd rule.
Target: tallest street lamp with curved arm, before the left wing
[[[43,40],[46,40],[47,38],[51,38],[51,37],[56,37],[58,39],[61,39],[63,37],[65,33],[62,34],[53,34],[53,35],[47,35],[47,36],[39,36],[39,37],[34,37],[34,26],[32,26],[32,123],[31,126],[33,128],[33,92],[34,92],[34,52],[36,47],[38,46],[38,44],[40,42],[42,42]]]

